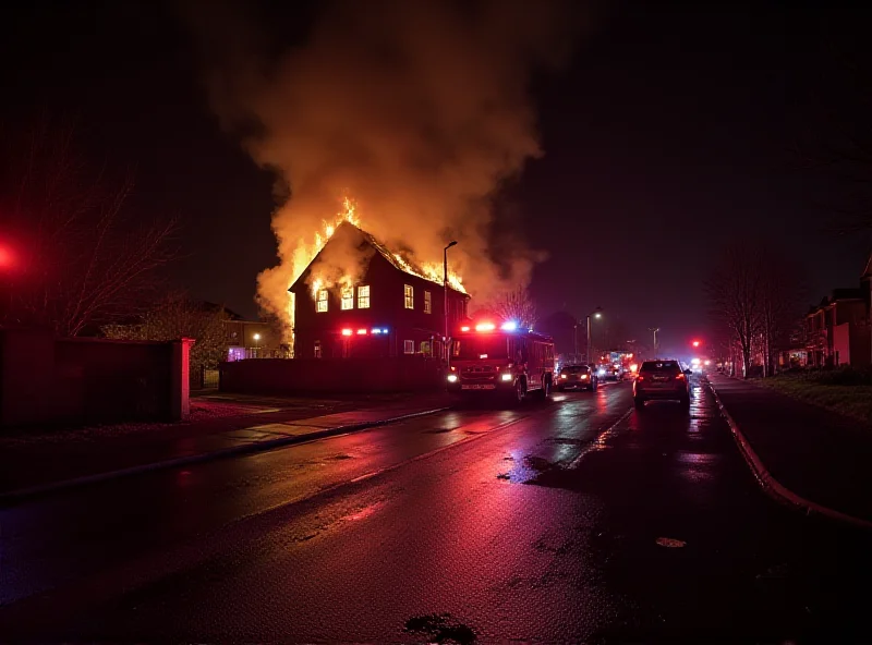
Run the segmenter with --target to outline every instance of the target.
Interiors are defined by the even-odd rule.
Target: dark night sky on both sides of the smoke
[[[810,300],[857,284],[870,241],[823,231],[839,188],[803,159],[849,112],[838,59],[860,57],[860,16],[705,4],[603,5],[569,69],[536,77],[545,157],[505,200],[550,255],[533,280],[542,315],[601,305],[683,348],[705,336],[702,280],[737,235],[803,258]],[[180,218],[179,285],[255,316],[271,178],[220,131],[184,24],[159,2],[74,5],[7,15],[0,125],[75,115],[89,156],[135,167],[137,210]],[[304,37],[311,7],[283,11],[289,42]]]

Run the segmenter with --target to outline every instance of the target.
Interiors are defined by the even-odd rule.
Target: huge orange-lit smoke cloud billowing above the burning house
[[[420,264],[440,266],[457,240],[451,267],[473,302],[525,284],[542,255],[520,235],[506,244],[493,204],[542,155],[529,84],[538,65],[566,58],[572,0],[339,0],[320,10],[305,42],[278,53],[269,31],[241,15],[214,3],[192,12],[211,46],[216,111],[278,178],[280,264],[258,278],[261,304],[287,317],[288,287],[346,197],[364,230]]]

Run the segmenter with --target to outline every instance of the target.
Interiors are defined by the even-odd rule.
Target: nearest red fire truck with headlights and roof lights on
[[[512,321],[463,326],[447,380],[456,394],[502,393],[519,403],[533,393],[544,399],[554,384],[554,341]]]

